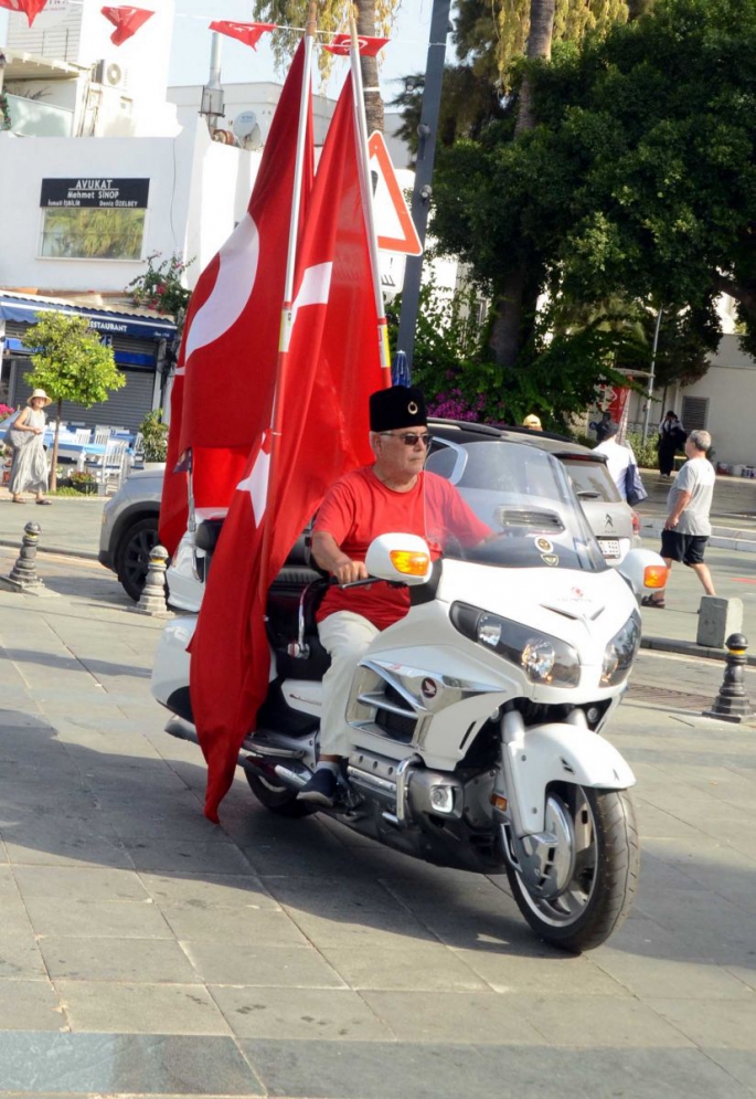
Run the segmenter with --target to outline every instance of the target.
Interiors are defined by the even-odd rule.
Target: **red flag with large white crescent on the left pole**
[[[187,529],[192,452],[194,503],[224,510],[255,440],[270,422],[305,44],[295,55],[270,124],[247,213],[200,275],[191,297],[171,391],[171,427],[160,507],[160,541],[172,553]],[[312,186],[308,109],[300,224]]]

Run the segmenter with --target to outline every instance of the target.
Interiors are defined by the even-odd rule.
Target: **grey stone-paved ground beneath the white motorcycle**
[[[640,890],[565,957],[503,879],[276,817],[241,774],[209,824],[149,694],[161,624],[90,562],[40,572],[60,598],[0,592],[0,1095],[756,1095],[756,725],[698,716],[714,662],[640,655],[610,732]]]

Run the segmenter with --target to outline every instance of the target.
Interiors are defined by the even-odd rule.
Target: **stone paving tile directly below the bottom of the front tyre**
[[[626,996],[629,993],[609,974],[594,964],[595,953],[579,957],[561,951],[545,957],[517,953],[456,950],[455,954],[475,970],[494,992],[536,995]]]

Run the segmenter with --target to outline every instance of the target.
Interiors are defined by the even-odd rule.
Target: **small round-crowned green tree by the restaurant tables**
[[[36,324],[26,329],[24,344],[33,349],[32,366],[24,378],[33,389],[43,389],[56,402],[50,487],[56,487],[57,442],[63,401],[85,409],[107,401],[108,394],[126,384],[116,367],[113,348],[100,341],[85,317],[67,313],[38,313]]]

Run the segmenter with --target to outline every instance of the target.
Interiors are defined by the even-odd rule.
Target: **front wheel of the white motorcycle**
[[[568,880],[558,894],[537,896],[508,867],[512,895],[531,928],[547,942],[579,953],[605,942],[625,921],[638,887],[638,827],[626,790],[583,786],[551,791],[566,814],[574,844]]]

